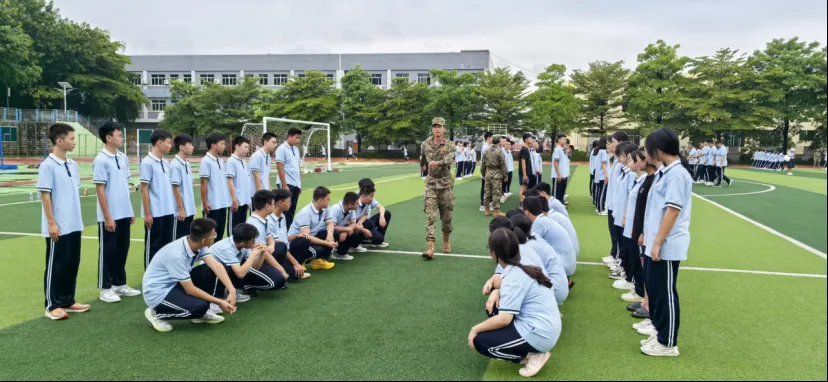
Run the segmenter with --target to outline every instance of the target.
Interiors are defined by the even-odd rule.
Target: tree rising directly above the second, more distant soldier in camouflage
[[[478,124],[498,123],[520,129],[526,119],[524,96],[528,89],[529,80],[523,72],[512,74],[508,68],[485,71],[477,87],[483,110]]]

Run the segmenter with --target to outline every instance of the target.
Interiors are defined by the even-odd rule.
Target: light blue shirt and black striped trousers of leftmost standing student
[[[80,208],[80,175],[72,159],[50,154],[38,169],[37,191],[49,193],[52,214],[60,230],[57,241],[49,236],[49,221],[41,210],[41,235],[46,239],[46,272],[43,278],[46,311],[75,304],[75,285],[80,266],[83,219]]]

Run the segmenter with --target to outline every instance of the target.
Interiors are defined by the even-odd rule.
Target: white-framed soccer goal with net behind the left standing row
[[[250,140],[251,145],[261,146],[262,136],[265,133],[276,135],[278,144],[287,139],[291,128],[302,130],[300,151],[302,153],[301,168],[305,173],[321,168],[331,171],[331,125],[328,123],[297,121],[284,118],[265,117],[262,123],[247,123],[242,128],[242,135]]]

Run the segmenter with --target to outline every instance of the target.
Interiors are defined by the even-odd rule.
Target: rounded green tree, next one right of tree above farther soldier
[[[526,97],[532,127],[547,136],[577,127],[578,99],[565,82],[566,66],[550,65],[538,75],[537,90]]]

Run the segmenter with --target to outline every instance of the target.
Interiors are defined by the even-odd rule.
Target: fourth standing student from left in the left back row
[[[190,225],[195,218],[195,193],[193,192],[193,169],[190,165],[190,156],[193,155],[193,137],[188,134],[178,134],[173,139],[178,154],[170,163],[170,181],[173,185],[173,195],[178,206],[178,215],[175,226],[174,240],[190,234]]]

